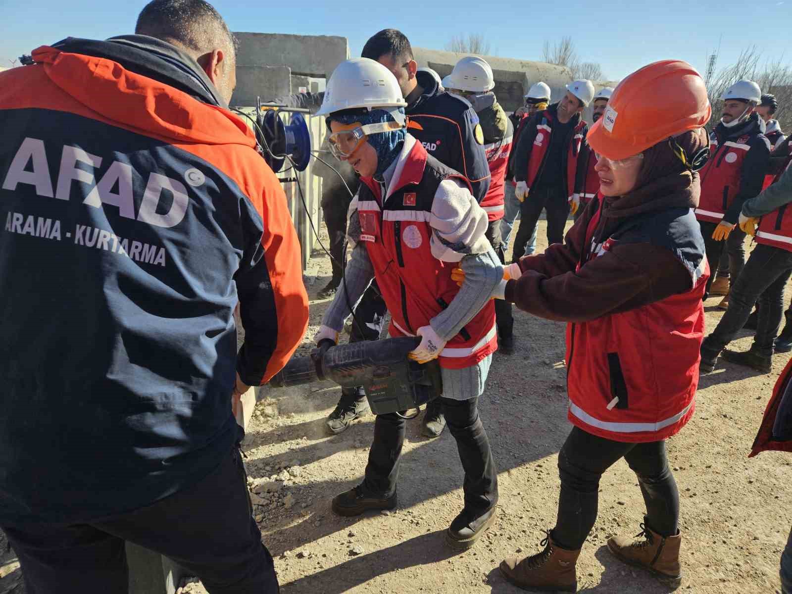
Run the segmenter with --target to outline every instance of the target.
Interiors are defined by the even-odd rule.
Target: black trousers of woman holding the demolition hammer
[[[465,470],[465,508],[480,515],[497,503],[497,470],[487,433],[478,417],[478,398],[438,400]],[[374,422],[365,484],[371,492],[383,497],[390,497],[396,491],[405,425],[406,421],[395,413],[377,415]]]

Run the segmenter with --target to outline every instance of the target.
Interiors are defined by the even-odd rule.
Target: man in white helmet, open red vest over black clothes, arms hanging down
[[[566,90],[561,101],[531,118],[515,149],[515,194],[522,204],[514,261],[523,257],[523,246],[543,210],[547,211],[548,244],[563,241],[569,203],[583,190],[586,170],[579,157],[588,126],[581,112],[594,98],[594,86],[579,80],[569,83]]]

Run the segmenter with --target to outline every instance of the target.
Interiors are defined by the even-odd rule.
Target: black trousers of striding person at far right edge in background
[[[772,356],[773,342],[784,310],[784,287],[792,275],[792,252],[759,244],[751,252],[737,280],[732,279],[729,309],[704,339],[702,348],[721,352],[745,325],[753,304],[759,304],[752,348]]]

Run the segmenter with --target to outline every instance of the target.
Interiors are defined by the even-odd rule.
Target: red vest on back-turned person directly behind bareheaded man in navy
[[[505,214],[504,197],[506,167],[512,154],[514,128],[501,105],[493,105],[478,112],[484,132],[484,151],[489,164],[489,190],[482,200],[482,208],[490,222],[503,219]]]

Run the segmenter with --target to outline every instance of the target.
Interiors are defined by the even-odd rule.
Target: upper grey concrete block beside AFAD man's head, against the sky
[[[294,74],[325,77],[349,58],[346,37],[234,32],[239,40],[237,64],[287,66]]]

